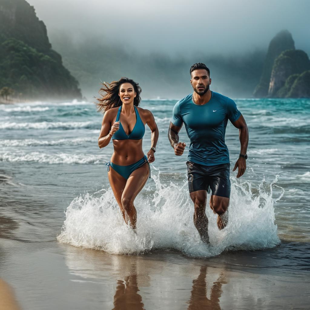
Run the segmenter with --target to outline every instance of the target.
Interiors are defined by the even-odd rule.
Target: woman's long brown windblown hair
[[[96,98],[98,102],[95,102],[98,112],[105,112],[111,108],[122,105],[122,101],[118,93],[120,86],[124,83],[130,83],[137,94],[134,98],[134,105],[137,107],[140,104],[140,93],[142,89],[139,86],[139,83],[136,83],[134,80],[129,78],[121,78],[120,80],[113,81],[110,84],[105,82],[101,83],[101,85],[103,85],[99,90],[99,95],[101,97]]]

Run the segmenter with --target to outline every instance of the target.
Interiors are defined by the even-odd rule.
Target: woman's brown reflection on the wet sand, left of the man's
[[[133,264],[131,274],[125,277],[124,280],[117,281],[113,310],[144,310],[142,297],[138,294],[138,291],[137,266],[136,264]]]

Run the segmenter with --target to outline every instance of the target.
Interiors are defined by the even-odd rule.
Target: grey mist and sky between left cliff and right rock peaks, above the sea
[[[144,98],[181,98],[191,91],[188,70],[198,61],[211,70],[212,90],[249,97],[277,32],[288,29],[295,47],[310,51],[304,0],[27,1],[87,99],[100,80],[121,76],[136,79]]]

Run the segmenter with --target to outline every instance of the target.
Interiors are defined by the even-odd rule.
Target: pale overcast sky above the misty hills
[[[27,0],[47,26],[75,40],[94,36],[142,52],[237,53],[267,48],[288,29],[310,52],[309,0]]]

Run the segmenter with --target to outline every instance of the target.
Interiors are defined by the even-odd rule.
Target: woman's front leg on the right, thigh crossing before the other
[[[122,193],[122,206],[128,215],[129,224],[134,232],[136,232],[137,223],[137,211],[134,206],[134,200],[148,180],[148,174],[148,165],[145,163],[143,166],[131,173]]]

